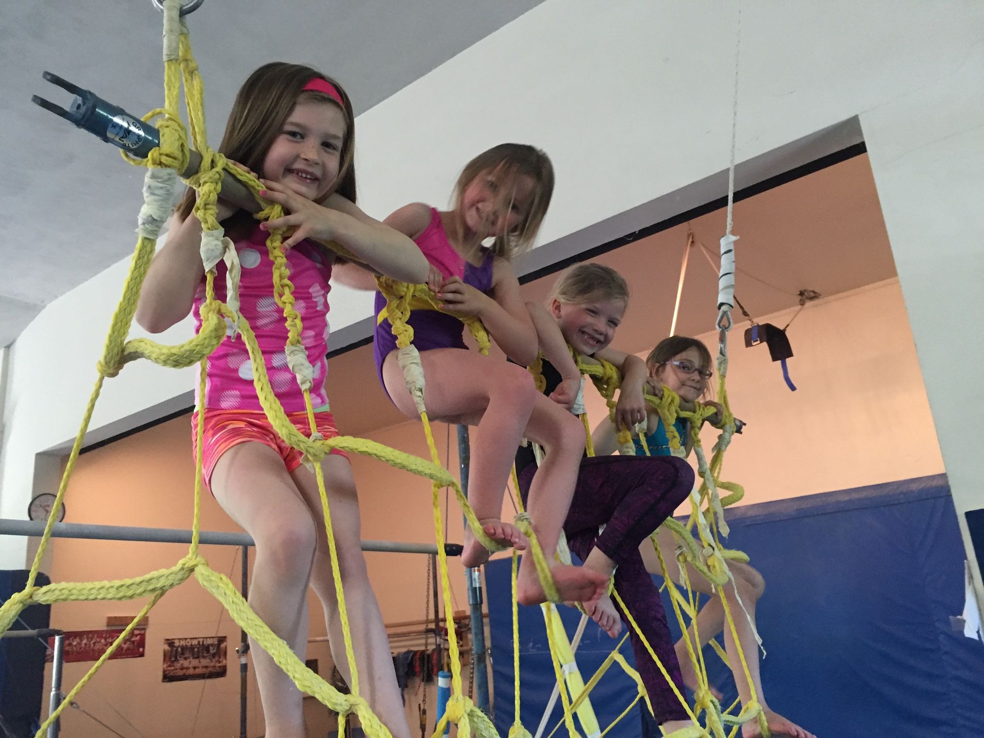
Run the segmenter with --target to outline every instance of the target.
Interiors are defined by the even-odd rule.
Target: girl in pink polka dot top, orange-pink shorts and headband
[[[412,240],[353,204],[353,127],[351,104],[337,83],[310,67],[273,63],[254,72],[240,89],[219,146],[229,159],[259,172],[267,188],[261,195],[289,214],[257,225],[251,215],[218,203],[218,219],[235,243],[242,270],[240,313],[256,333],[277,399],[291,422],[307,435],[303,396],[284,354],[287,330],[274,299],[273,262],[266,246],[270,228],[294,228],[283,248],[294,309],[303,324],[301,339],[314,370],[311,400],[316,425],[325,438],[338,435],[324,389],[329,279],[335,257],[307,239],[337,241],[365,265],[401,281],[419,283],[428,275],[427,260]],[[202,225],[189,216],[193,205],[194,192],[189,191],[144,282],[137,320],[152,333],[169,328],[190,311],[196,330],[201,327]],[[224,277],[225,265],[219,263],[215,291],[222,300]],[[257,399],[246,348],[241,338],[231,334],[230,326],[229,337],[208,359],[204,480],[229,517],[256,541],[250,605],[303,659],[310,584],[325,610],[335,662],[348,678],[314,474],[268,422]],[[396,738],[408,738],[386,630],[362,556],[351,467],[343,453],[333,452],[322,461],[322,468],[362,695]],[[266,735],[302,738],[300,692],[265,651],[256,647],[252,652]]]

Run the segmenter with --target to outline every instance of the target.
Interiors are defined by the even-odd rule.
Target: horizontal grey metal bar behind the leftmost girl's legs
[[[0,535],[28,535],[40,537],[44,532],[43,521],[15,521],[0,518]],[[89,523],[55,523],[52,535],[56,538],[88,538],[95,540],[128,540],[146,543],[191,543],[191,530],[170,527],[135,527],[131,525],[92,525]],[[203,544],[218,546],[253,546],[253,538],[246,533],[221,530],[203,530],[199,533]],[[392,553],[436,554],[433,543],[402,543],[390,540],[364,540],[363,551]],[[446,543],[448,556],[461,556],[461,545]]]

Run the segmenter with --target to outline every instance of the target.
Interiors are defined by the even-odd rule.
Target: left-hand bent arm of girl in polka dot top
[[[195,215],[171,218],[167,238],[154,254],[137,303],[137,323],[152,334],[166,331],[191,312],[195,290],[205,275],[202,222]]]

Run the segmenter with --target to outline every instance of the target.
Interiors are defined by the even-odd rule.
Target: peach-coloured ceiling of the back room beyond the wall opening
[[[713,252],[724,221],[721,210],[690,226]],[[617,348],[639,353],[669,335],[687,228],[682,224],[591,260],[629,282],[631,302]],[[830,297],[895,277],[867,154],[737,203],[734,232],[740,236],[735,293],[754,318],[795,307],[801,289]],[[717,267],[699,249],[690,254],[680,304],[676,333],[685,336],[712,330],[717,314]],[[523,284],[523,298],[544,299],[555,278]],[[332,358],[329,371],[329,398],[343,433],[364,436],[406,420],[380,389],[371,345]]]

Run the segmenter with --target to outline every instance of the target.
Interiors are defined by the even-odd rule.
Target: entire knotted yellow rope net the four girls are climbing
[[[166,220],[170,211],[170,204],[173,202],[174,188],[177,183],[177,172],[183,171],[189,160],[189,133],[180,120],[178,113],[178,103],[182,83],[184,85],[185,103],[188,111],[189,129],[191,143],[195,149],[202,154],[202,163],[199,172],[190,177],[187,183],[198,190],[199,197],[195,206],[195,215],[199,217],[203,225],[203,247],[202,255],[206,266],[206,298],[201,308],[202,328],[195,338],[192,338],[179,345],[163,345],[149,338],[128,339],[133,317],[137,308],[141,285],[147,276],[151,259],[154,256],[156,247],[157,233],[160,226]],[[215,206],[221,187],[221,178],[224,173],[228,173],[238,178],[254,194],[259,202],[266,207],[257,215],[260,219],[276,218],[282,214],[281,208],[277,204],[266,203],[259,197],[261,189],[260,182],[248,172],[231,165],[225,160],[222,154],[215,153],[209,148],[206,129],[205,114],[203,103],[202,78],[199,74],[198,66],[192,54],[191,43],[188,30],[184,22],[178,16],[178,0],[164,1],[164,105],[148,113],[145,121],[153,119],[160,131],[160,146],[155,149],[146,159],[136,160],[124,154],[131,163],[147,167],[148,173],[145,180],[145,206],[141,211],[140,227],[138,228],[139,238],[134,251],[134,256],[130,265],[130,272],[126,278],[123,293],[120,297],[118,306],[113,314],[107,332],[105,345],[99,358],[96,369],[97,377],[92,395],[87,404],[79,432],[69,455],[65,472],[58,487],[56,502],[52,508],[51,515],[45,524],[44,533],[38,545],[37,552],[31,564],[31,572],[25,588],[14,594],[2,606],[0,606],[0,632],[6,632],[21,611],[31,604],[53,604],[67,601],[92,601],[92,600],[125,600],[137,597],[150,597],[141,611],[133,621],[124,629],[119,638],[106,650],[105,653],[92,665],[89,672],[79,680],[79,682],[69,691],[61,705],[54,710],[40,726],[36,733],[36,738],[43,736],[48,726],[58,719],[62,710],[72,703],[79,691],[92,679],[92,675],[100,666],[113,654],[118,646],[123,643],[137,626],[137,624],[147,616],[156,602],[170,589],[182,584],[185,580],[194,576],[222,606],[229,612],[233,620],[245,630],[261,647],[263,647],[274,659],[277,665],[293,680],[297,687],[303,692],[313,696],[319,702],[332,710],[338,712],[339,727],[343,726],[344,721],[350,714],[355,714],[363,727],[365,733],[373,738],[388,738],[391,733],[383,725],[379,718],[372,712],[365,699],[360,695],[359,673],[356,666],[355,654],[351,642],[351,633],[348,622],[348,615],[345,606],[344,587],[341,575],[338,570],[338,557],[335,551],[335,536],[332,527],[331,508],[328,496],[325,491],[325,480],[320,461],[333,449],[340,449],[347,452],[363,454],[365,456],[385,461],[397,468],[409,471],[410,473],[428,478],[432,481],[432,507],[434,512],[434,528],[438,542],[438,561],[441,571],[441,582],[444,596],[445,609],[451,612],[453,604],[451,601],[451,584],[448,574],[447,556],[444,549],[445,531],[442,524],[439,495],[438,492],[445,487],[455,490],[456,497],[461,505],[465,519],[473,531],[477,540],[490,550],[501,550],[492,540],[485,535],[481,524],[477,521],[473,511],[461,491],[461,486],[457,480],[441,465],[433,434],[431,433],[430,423],[423,404],[423,375],[420,371],[419,355],[412,346],[413,330],[407,324],[407,318],[412,309],[436,309],[437,304],[434,295],[423,285],[408,285],[396,282],[386,277],[378,279],[379,287],[388,298],[388,305],[385,314],[380,316],[388,317],[393,324],[394,333],[398,338],[398,348],[400,351],[400,364],[404,368],[407,377],[407,388],[411,395],[417,400],[420,417],[423,421],[424,432],[427,437],[428,448],[431,453],[431,461],[424,461],[409,454],[404,454],[395,449],[388,448],[381,444],[368,441],[366,439],[339,436],[333,439],[324,439],[316,431],[315,416],[311,403],[310,389],[312,386],[311,367],[308,364],[304,347],[301,343],[302,323],[300,315],[294,310],[293,285],[288,277],[286,259],[282,248],[283,230],[277,229],[270,233],[267,240],[268,254],[274,262],[274,293],[277,305],[282,309],[286,327],[288,329],[288,339],[285,345],[288,363],[298,379],[298,384],[303,392],[305,407],[310,424],[310,435],[305,436],[298,431],[287,419],[277,396],[271,387],[267,376],[266,365],[263,360],[257,339],[249,325],[249,322],[238,312],[238,261],[236,252],[231,241],[223,238],[222,230],[218,225],[215,216]],[[328,244],[328,246],[338,252],[339,255],[351,258],[338,244]],[[227,294],[226,301],[222,302],[215,296],[215,265],[218,261],[225,260],[228,265],[227,270]],[[483,353],[488,352],[489,339],[485,334],[480,321],[468,316],[458,316],[468,327],[472,336],[476,339],[479,349]],[[201,523],[201,498],[202,498],[202,448],[203,448],[203,429],[206,408],[203,405],[206,382],[206,359],[215,350],[219,342],[226,338],[227,323],[233,327],[233,336],[238,335],[249,351],[251,365],[253,367],[254,385],[257,396],[260,400],[270,422],[277,430],[277,434],[292,448],[304,454],[305,461],[313,469],[317,479],[319,493],[321,497],[322,512],[324,515],[325,530],[328,537],[331,558],[332,573],[338,593],[338,610],[342,624],[342,636],[344,649],[348,661],[350,678],[350,694],[343,695],[332,685],[315,674],[311,669],[294,654],[280,638],[250,609],[247,602],[243,599],[235,586],[223,575],[215,572],[199,551],[199,533]],[[92,419],[92,411],[98,400],[104,380],[115,377],[123,367],[138,359],[149,359],[160,366],[183,368],[189,367],[196,362],[200,366],[199,374],[199,406],[198,410],[198,455],[196,459],[195,477],[195,504],[192,522],[192,543],[185,555],[173,567],[162,569],[142,577],[112,582],[90,582],[90,583],[55,583],[46,586],[35,585],[36,577],[40,567],[40,562],[51,538],[54,523],[57,520],[59,510],[65,498],[69,479],[75,463],[78,460],[79,452],[86,437],[89,423]],[[612,412],[614,412],[614,392],[618,389],[620,377],[618,372],[604,363],[600,365],[585,364],[581,362],[582,371],[591,377],[592,381],[598,386],[602,395],[608,402]],[[725,407],[725,425],[731,424],[733,428],[733,416],[727,405],[727,396],[723,387],[724,376],[721,374],[720,397]],[[685,417],[692,420],[692,441],[695,448],[700,448],[700,436],[697,428],[700,422],[712,412],[711,409],[698,406],[694,411],[688,413],[679,408],[678,400],[668,391],[663,392],[661,399],[647,397],[648,400],[660,414],[666,425],[667,432],[670,434],[670,443],[674,448],[680,448],[680,439],[673,431],[673,421],[676,417]],[[586,426],[586,418],[585,428]],[[590,438],[588,434],[588,439]],[[622,441],[626,439],[620,439]],[[673,532],[682,541],[682,549],[678,558],[681,562],[692,564],[718,588],[728,581],[728,571],[724,563],[725,559],[747,560],[743,554],[723,549],[718,539],[718,530],[726,534],[726,525],[723,523],[723,507],[741,499],[742,490],[738,485],[721,482],[719,478],[721,457],[725,443],[718,443],[715,446],[713,459],[707,464],[703,454],[699,454],[702,463],[701,473],[704,481],[700,490],[700,500],[708,503],[708,512],[701,510],[700,504],[695,502],[691,520],[687,525],[679,523],[667,523],[672,526]],[[723,500],[718,500],[717,489],[725,489],[731,494]],[[517,523],[523,530],[530,542],[530,555],[533,556],[536,571],[539,575],[541,584],[547,592],[550,603],[545,605],[548,623],[548,637],[551,642],[551,652],[553,654],[554,668],[557,673],[559,683],[565,681],[563,671],[570,671],[567,664],[573,664],[573,652],[565,653],[564,647],[558,642],[567,643],[563,628],[560,627],[560,619],[550,616],[553,612],[553,603],[557,601],[557,590],[550,577],[549,566],[545,554],[540,547],[536,535],[529,523],[528,516],[522,511],[522,502],[519,501],[521,513],[517,517]],[[700,542],[690,533],[690,529],[697,525]],[[518,659],[518,620],[516,610],[516,554],[513,561],[513,580],[514,580],[514,647],[516,649],[514,658]],[[660,557],[660,561],[662,561]],[[664,575],[665,575],[665,565]],[[693,617],[696,611],[696,600],[693,590],[688,586],[688,597],[684,597],[667,578],[667,585],[673,595],[674,609],[681,622],[683,616],[681,610],[686,610]],[[619,598],[618,592],[613,592],[616,599]],[[722,597],[723,601],[723,597]],[[731,619],[727,603],[724,602],[725,613],[729,627],[734,633],[734,623]],[[553,613],[556,615],[556,613]],[[553,626],[551,627],[551,624]],[[637,632],[639,627],[635,622],[632,626]],[[560,627],[560,633],[556,632]],[[687,632],[684,627],[684,632]],[[562,637],[562,638],[558,638]],[[737,636],[735,636],[737,640]],[[452,667],[452,697],[448,703],[448,708],[439,721],[434,735],[441,735],[445,726],[449,722],[458,725],[458,735],[466,738],[472,732],[482,738],[494,738],[497,736],[494,726],[488,717],[482,713],[467,697],[464,696],[461,685],[461,657],[459,646],[454,629],[449,630],[449,650],[451,654]],[[716,644],[715,644],[716,646]],[[570,646],[568,645],[568,649]],[[721,651],[717,646],[718,652]],[[576,712],[581,715],[593,712],[584,712],[582,707],[587,704],[586,696],[589,691],[597,684],[598,679],[614,662],[619,662],[622,667],[633,676],[640,686],[640,694],[636,697],[633,705],[640,699],[647,697],[645,689],[638,674],[631,669],[622,656],[613,651],[609,659],[592,676],[586,685],[580,681],[568,680],[568,684],[574,687],[581,684],[581,688],[575,691],[572,689],[571,696],[561,689],[562,702],[564,705],[564,723],[571,736],[577,736],[577,729],[573,721],[573,714]],[[741,714],[731,717],[727,713],[721,713],[720,707],[709,696],[707,689],[707,673],[703,668],[703,660],[700,650],[691,645],[688,640],[688,650],[692,659],[698,666],[696,669],[701,679],[701,688],[698,691],[697,714],[702,710],[707,714],[707,729],[697,727],[697,714],[690,712],[695,728],[687,728],[683,731],[674,733],[678,738],[690,738],[690,736],[707,736],[712,731],[715,738],[723,736],[722,722],[730,723],[735,726],[732,735],[737,730],[737,725],[747,719],[752,719],[756,715],[763,723],[764,732],[768,735],[768,730],[761,715],[761,707],[755,701],[746,705]],[[651,648],[650,648],[651,652]],[[566,656],[566,657],[563,657]],[[653,658],[655,655],[653,654]],[[657,660],[658,663],[658,660]],[[516,686],[516,722],[510,730],[510,738],[525,738],[528,732],[523,728],[520,719],[520,689],[519,689],[519,668],[515,662],[517,686]],[[660,665],[661,666],[661,665]],[[748,669],[745,667],[746,677]],[[575,668],[576,671],[576,668]],[[665,674],[665,669],[663,669]],[[667,676],[668,679],[668,676]],[[578,677],[580,680],[580,676]],[[749,679],[751,684],[751,679]],[[573,697],[573,699],[572,699]],[[680,697],[683,701],[683,697]],[[686,704],[686,703],[684,703]],[[589,707],[589,706],[588,706]],[[632,706],[630,706],[632,707]],[[688,707],[688,711],[690,708]],[[626,714],[626,712],[623,713]],[[619,718],[621,719],[621,718]],[[617,722],[616,720],[615,722]],[[614,726],[612,723],[605,731],[604,735]],[[695,730],[697,732],[695,732]],[[594,732],[593,730],[591,732]]]

